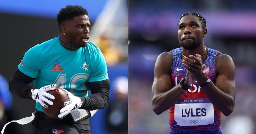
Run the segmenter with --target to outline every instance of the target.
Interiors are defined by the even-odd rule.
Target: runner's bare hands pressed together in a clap
[[[196,82],[196,80],[199,77],[202,77],[204,68],[206,67],[205,64],[202,64],[201,55],[196,54],[196,57],[193,55],[190,55],[189,57],[184,56],[183,67],[187,69],[186,74],[186,80],[184,84],[191,85],[193,82]]]

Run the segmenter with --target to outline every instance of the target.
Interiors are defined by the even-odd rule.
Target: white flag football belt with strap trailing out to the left
[[[85,109],[75,109],[75,110],[72,110],[70,112],[70,114],[68,114],[68,115],[70,115],[73,123],[76,123],[76,122],[79,122],[79,121],[84,120],[86,118],[92,117],[97,111],[98,111],[98,109],[92,110],[90,112],[88,110],[85,110]],[[21,124],[21,125],[28,124],[29,122],[32,122],[34,120],[37,112],[38,111],[33,112],[32,116],[30,116],[30,117],[25,117],[25,118],[19,119],[17,121],[11,121],[11,122],[17,122],[18,124]],[[45,118],[50,118],[50,117],[45,117]],[[56,119],[58,119],[58,118],[56,118]],[[58,120],[60,120],[60,119],[58,119]],[[11,122],[8,122],[4,125],[4,127],[1,131],[1,134],[3,134],[5,127]]]

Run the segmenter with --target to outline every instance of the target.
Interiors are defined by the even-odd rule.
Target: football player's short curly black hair
[[[67,20],[72,20],[76,16],[88,15],[88,12],[85,8],[81,6],[72,6],[67,5],[65,8],[61,8],[60,12],[57,15],[58,27],[61,27],[61,24]]]

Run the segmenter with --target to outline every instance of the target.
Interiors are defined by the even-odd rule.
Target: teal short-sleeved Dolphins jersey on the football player
[[[88,82],[108,79],[105,58],[95,44],[89,41],[86,47],[70,51],[61,46],[59,37],[30,48],[18,69],[35,78],[35,89],[57,84],[79,97],[88,96]],[[36,109],[43,111],[38,102]]]

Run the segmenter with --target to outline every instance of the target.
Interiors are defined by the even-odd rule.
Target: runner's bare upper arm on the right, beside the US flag
[[[217,72],[216,87],[235,98],[235,65],[230,56],[219,58]]]

